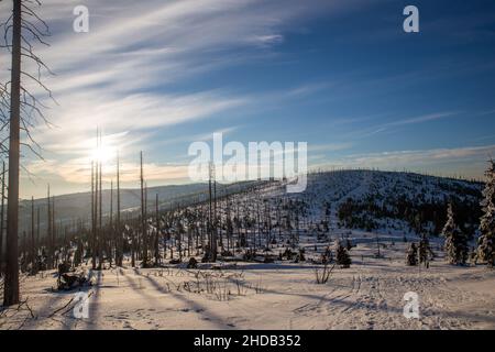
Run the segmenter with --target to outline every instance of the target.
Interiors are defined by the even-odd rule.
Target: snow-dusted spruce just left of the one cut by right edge
[[[450,264],[464,265],[468,260],[468,238],[459,230],[454,221],[452,204],[447,209],[447,222],[442,230],[446,238],[446,258]]]

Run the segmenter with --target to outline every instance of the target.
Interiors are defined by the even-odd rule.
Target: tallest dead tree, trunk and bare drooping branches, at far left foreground
[[[50,35],[46,23],[30,8],[29,4],[41,6],[38,1],[13,0],[12,14],[3,24],[6,44],[2,45],[11,52],[11,80],[6,85],[3,96],[10,85],[10,119],[9,119],[9,193],[7,202],[7,251],[6,251],[6,279],[3,305],[19,304],[19,175],[20,175],[20,150],[26,146],[36,156],[40,155],[40,145],[32,139],[31,129],[34,128],[36,118],[45,123],[47,120],[40,107],[44,107],[35,95],[22,86],[21,77],[32,80],[45,90],[50,97],[52,92],[41,81],[41,70],[50,69],[43,61],[33,52],[32,40],[46,44],[43,36]],[[40,29],[44,28],[44,30]],[[9,33],[12,33],[11,42],[8,42]],[[47,45],[47,44],[46,44]],[[37,76],[22,70],[21,58],[33,61],[37,65]],[[26,135],[28,142],[21,142],[21,131]]]

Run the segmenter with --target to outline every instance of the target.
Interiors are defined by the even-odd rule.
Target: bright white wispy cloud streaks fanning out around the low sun
[[[72,30],[77,4],[89,9],[89,33]],[[3,18],[9,4],[3,1],[0,8]],[[38,11],[53,37],[50,47],[36,50],[57,74],[44,78],[59,105],[44,100],[51,103],[47,114],[56,128],[40,124],[32,133],[48,162],[28,161],[28,167],[81,182],[97,127],[109,135],[108,143],[138,150],[151,131],[252,103],[250,95],[229,88],[187,91],[174,89],[174,84],[238,64],[237,50],[271,55],[290,21],[338,8],[319,0],[204,0],[200,6],[194,0],[47,1]],[[7,61],[6,53],[1,55]],[[250,54],[244,51],[242,56]],[[2,68],[0,80],[8,74]],[[29,88],[42,94],[34,85]],[[150,169],[157,170],[153,175],[161,170],[158,165]]]

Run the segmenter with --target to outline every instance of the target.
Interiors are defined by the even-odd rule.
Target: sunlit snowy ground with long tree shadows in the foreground
[[[350,268],[317,284],[310,263],[226,263],[223,270],[117,268],[95,273],[89,317],[74,292],[54,293],[55,273],[23,277],[26,305],[2,311],[1,329],[495,329],[495,271],[404,264],[404,244],[359,244]],[[205,264],[206,265],[206,264]],[[207,267],[207,266],[205,266]],[[419,319],[404,295],[419,296]],[[29,306],[29,309],[28,309]],[[31,311],[30,311],[31,309]],[[32,315],[31,315],[32,314]]]

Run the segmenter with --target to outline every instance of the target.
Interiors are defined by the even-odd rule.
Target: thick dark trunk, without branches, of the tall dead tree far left
[[[7,252],[3,306],[19,304],[19,160],[21,120],[21,0],[13,0],[12,70],[10,92],[9,198],[7,201]]]

